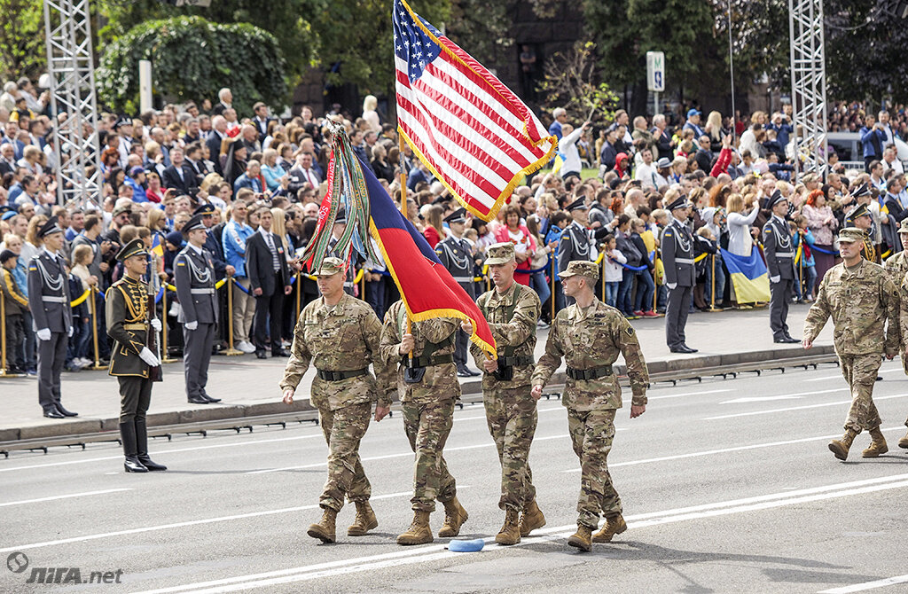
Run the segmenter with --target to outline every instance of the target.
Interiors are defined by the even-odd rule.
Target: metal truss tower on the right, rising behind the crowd
[[[788,0],[795,174],[826,169],[826,54],[823,0]],[[801,130],[799,133],[798,130]]]

